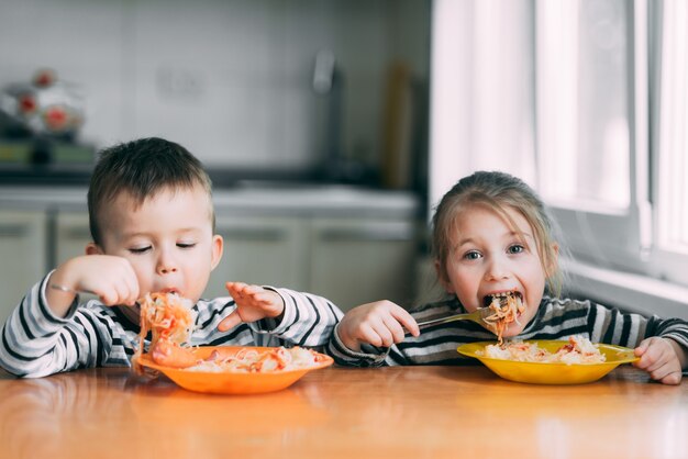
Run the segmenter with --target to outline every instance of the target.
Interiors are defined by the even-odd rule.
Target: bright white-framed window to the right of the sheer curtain
[[[684,284],[686,10],[681,0],[535,3],[541,194],[578,258]]]

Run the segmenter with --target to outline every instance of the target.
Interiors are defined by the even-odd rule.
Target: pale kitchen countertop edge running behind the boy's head
[[[86,187],[0,187],[1,209],[86,211]],[[218,213],[321,216],[420,216],[421,203],[408,191],[344,184],[260,184],[217,188]]]

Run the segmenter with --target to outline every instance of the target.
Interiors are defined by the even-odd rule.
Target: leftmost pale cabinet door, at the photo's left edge
[[[44,212],[0,211],[0,323],[46,269]]]

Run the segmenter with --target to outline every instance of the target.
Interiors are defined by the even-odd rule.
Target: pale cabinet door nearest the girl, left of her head
[[[343,311],[377,300],[409,305],[414,292],[413,220],[314,219],[309,291]]]

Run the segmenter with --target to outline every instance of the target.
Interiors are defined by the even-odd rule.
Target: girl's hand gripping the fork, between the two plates
[[[344,314],[337,326],[339,336],[351,350],[360,350],[364,343],[376,347],[390,347],[401,343],[404,329],[420,335],[415,320],[403,307],[382,300],[354,307]]]

